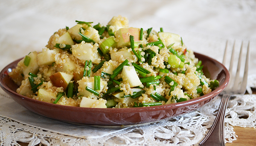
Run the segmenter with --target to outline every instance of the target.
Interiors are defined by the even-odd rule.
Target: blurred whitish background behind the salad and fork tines
[[[75,20],[107,25],[118,15],[130,27],[177,33],[188,49],[220,62],[227,40],[250,40],[256,56],[256,0],[0,0],[0,68],[41,51],[54,32]]]

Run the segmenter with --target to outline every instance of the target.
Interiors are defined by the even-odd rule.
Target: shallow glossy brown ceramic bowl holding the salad
[[[87,125],[135,125],[157,122],[163,119],[180,116],[200,108],[214,97],[218,96],[226,88],[229,82],[229,71],[221,63],[208,56],[195,53],[195,56],[203,62],[204,75],[210,79],[217,79],[219,87],[209,94],[184,102],[139,107],[139,108],[81,108],[73,106],[55,105],[31,99],[16,93],[17,85],[8,76],[18,61],[7,65],[0,73],[0,85],[3,90],[15,100],[15,102],[33,111],[34,113],[61,120],[69,123]]]

